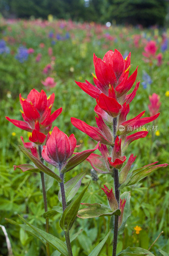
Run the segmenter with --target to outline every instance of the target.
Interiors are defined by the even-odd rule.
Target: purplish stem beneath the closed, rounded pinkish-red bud
[[[64,173],[60,173],[60,178],[63,180]],[[64,188],[64,183],[63,181],[60,182],[60,190],[61,190],[61,196],[62,196],[62,208],[63,212],[66,209],[66,197],[65,197],[65,188]],[[67,251],[69,256],[73,256],[72,253],[72,247],[70,244],[70,237],[69,237],[69,231],[65,231],[65,239],[66,239],[66,245],[67,245]]]

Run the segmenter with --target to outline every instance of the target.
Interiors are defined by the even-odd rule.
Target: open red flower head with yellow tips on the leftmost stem
[[[47,98],[46,93],[43,90],[38,92],[35,89],[31,90],[27,99],[22,98],[20,94],[20,103],[23,108],[23,111],[21,112],[25,122],[11,119],[7,116],[6,119],[28,132],[32,132],[33,129],[36,129],[39,132],[47,134],[51,129],[52,122],[62,112],[62,108],[59,108],[51,115],[54,97],[54,93]]]

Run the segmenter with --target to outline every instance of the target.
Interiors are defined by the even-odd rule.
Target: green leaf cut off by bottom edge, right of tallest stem
[[[152,254],[151,252],[140,248],[140,247],[127,247],[127,249],[121,251],[120,253],[118,253],[116,256],[155,256],[154,254]]]

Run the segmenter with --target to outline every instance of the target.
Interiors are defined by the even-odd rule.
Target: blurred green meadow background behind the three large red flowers
[[[44,245],[26,232],[21,226],[9,223],[5,218],[16,221],[21,220],[18,213],[26,220],[41,229],[45,227],[43,218],[43,198],[39,175],[31,172],[21,172],[18,169],[13,171],[13,165],[25,164],[29,160],[20,152],[18,145],[22,145],[20,136],[28,142],[28,134],[13,124],[9,123],[5,116],[12,119],[22,120],[19,109],[19,93],[26,98],[31,89],[38,91],[45,90],[41,83],[47,76],[51,76],[57,82],[56,87],[46,93],[49,96],[55,93],[53,111],[62,107],[63,111],[53,123],[67,135],[75,134],[77,144],[81,144],[80,150],[92,148],[96,142],[87,135],[76,129],[70,122],[70,117],[76,117],[87,124],[95,126],[95,99],[83,92],[74,82],[84,82],[92,80],[93,52],[96,56],[103,58],[109,49],[118,49],[122,55],[131,52],[131,72],[138,65],[138,81],[142,80],[143,72],[151,76],[152,84],[144,89],[140,82],[135,99],[130,105],[129,118],[136,116],[146,110],[145,116],[149,116],[148,96],[153,92],[160,96],[162,102],[160,116],[155,125],[158,125],[158,133],[152,134],[150,131],[146,138],[136,140],[130,144],[126,156],[131,153],[137,155],[134,168],[159,161],[159,164],[167,163],[169,158],[168,148],[168,64],[169,50],[163,52],[162,64],[153,65],[145,63],[142,52],[147,41],[155,40],[158,46],[158,53],[161,52],[163,30],[158,28],[141,29],[134,27],[122,27],[112,25],[106,26],[95,23],[73,23],[71,20],[1,20],[0,40],[4,40],[9,47],[10,53],[0,54],[0,224],[4,225],[11,241],[13,254],[15,256],[38,256],[45,255]],[[165,31],[166,37],[169,31]],[[51,37],[53,35],[53,37]],[[60,35],[60,36],[58,36]],[[138,40],[137,40],[138,38]],[[137,42],[138,41],[138,42]],[[39,44],[44,43],[44,48]],[[33,48],[34,53],[29,54],[28,59],[23,63],[15,58],[19,46]],[[48,48],[52,47],[55,57],[51,59]],[[41,53],[42,58],[36,62],[37,54]],[[51,63],[52,70],[49,74],[44,74],[43,69]],[[153,138],[153,140],[152,140]],[[152,154],[150,154],[153,147]],[[77,148],[78,150],[78,148]],[[100,189],[103,184],[110,187],[111,180],[108,176],[98,174],[98,180],[92,180],[91,166],[88,162],[83,162],[73,171],[68,172],[66,180],[74,177],[78,173],[87,172],[82,180],[82,190],[84,184],[91,180],[88,191],[83,197],[83,202],[104,203],[106,197]],[[127,246],[140,246],[148,249],[161,231],[164,231],[158,241],[153,245],[151,251],[155,255],[160,255],[158,249],[165,252],[169,248],[168,240],[168,204],[169,192],[168,168],[161,168],[150,177],[144,179],[137,185],[124,188],[131,192],[131,216],[123,235],[119,236],[117,253]],[[58,201],[59,186],[57,182],[46,177],[48,209],[61,203]],[[39,190],[40,188],[40,190]],[[50,233],[64,241],[64,234],[59,226],[61,213],[50,219]],[[77,239],[72,242],[74,256],[85,256],[103,239],[104,234],[109,230],[110,217],[95,219],[76,219],[71,230],[71,234],[79,231]],[[138,225],[142,228],[139,235],[135,233],[134,227]],[[81,230],[82,229],[82,230]],[[70,235],[71,236],[71,235]],[[101,256],[109,256],[112,251],[112,237],[109,236],[107,246],[104,246]],[[6,241],[4,233],[0,230],[0,255],[7,255]],[[51,253],[54,249],[51,247]],[[52,256],[60,255],[53,252]]]

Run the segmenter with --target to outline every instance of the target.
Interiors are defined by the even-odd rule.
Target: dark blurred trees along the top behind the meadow
[[[9,13],[19,18],[47,18],[95,21],[118,24],[163,25],[167,15],[165,0],[4,0],[0,3],[4,16]]]

